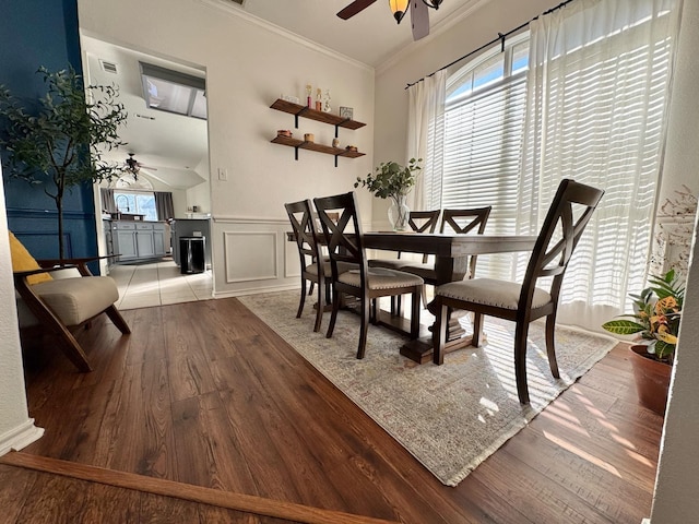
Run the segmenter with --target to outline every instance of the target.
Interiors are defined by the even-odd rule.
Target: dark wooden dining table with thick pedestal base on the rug
[[[363,239],[366,249],[434,255],[436,282],[441,285],[462,281],[467,275],[471,255],[532,251],[537,236],[368,231],[363,235]],[[429,305],[427,309],[429,310]],[[380,312],[379,322],[398,331],[404,330],[404,319],[386,311]],[[471,344],[472,336],[465,333],[457,315],[451,315],[448,325],[447,353]],[[433,349],[430,327],[419,338],[406,342],[401,347],[401,355],[424,364],[431,361]]]

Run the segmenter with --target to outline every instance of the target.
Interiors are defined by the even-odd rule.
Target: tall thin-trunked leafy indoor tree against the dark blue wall
[[[37,73],[47,92],[36,108],[28,108],[36,100],[23,100],[0,86],[0,145],[9,175],[43,186],[56,203],[58,254],[63,259],[66,190],[120,174],[103,153],[123,145],[118,129],[127,112],[115,86],[85,87],[72,68],[50,72],[42,67]]]

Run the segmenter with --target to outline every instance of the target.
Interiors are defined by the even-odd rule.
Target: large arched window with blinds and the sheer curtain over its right
[[[566,275],[561,322],[599,326],[642,287],[679,3],[576,2],[447,81],[426,205],[491,204],[487,233],[532,235],[561,178],[605,189]],[[518,259],[479,258],[478,276],[518,279]]]

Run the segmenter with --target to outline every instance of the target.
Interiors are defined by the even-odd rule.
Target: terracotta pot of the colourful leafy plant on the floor
[[[650,358],[643,345],[633,345],[630,349],[639,402],[643,407],[665,415],[672,365]]]

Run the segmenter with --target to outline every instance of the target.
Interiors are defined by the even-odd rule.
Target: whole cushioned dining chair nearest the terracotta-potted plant
[[[530,322],[546,317],[546,353],[552,374],[558,379],[555,349],[556,311],[564,275],[580,236],[590,222],[604,191],[564,179],[548,209],[530,257],[522,284],[494,278],[473,278],[438,286],[435,290],[437,320],[434,331],[434,362],[445,358],[449,308],[474,312],[473,342],[477,347],[483,332],[483,315],[511,320],[514,331],[514,374],[517,393],[529,404],[526,384],[526,336]],[[560,227],[559,227],[560,226]],[[550,278],[544,289],[540,278]]]

